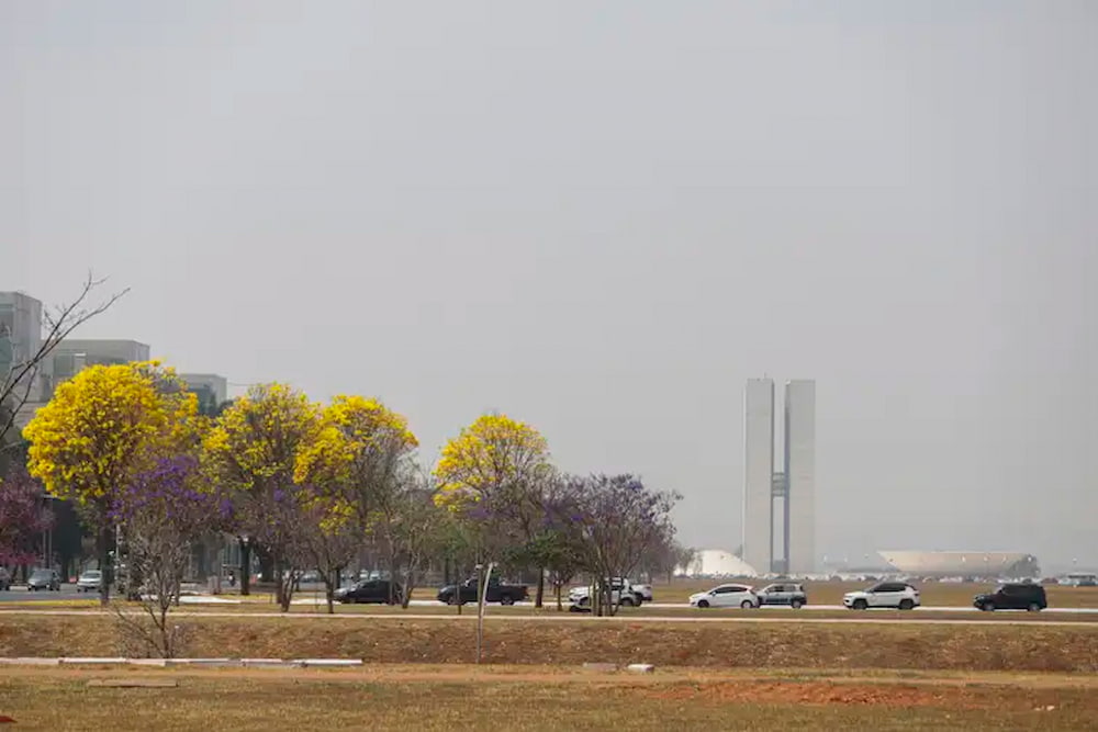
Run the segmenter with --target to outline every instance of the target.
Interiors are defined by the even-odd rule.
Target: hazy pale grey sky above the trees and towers
[[[1098,3],[0,2],[0,289],[83,337],[485,409],[735,549],[818,388],[818,552],[1098,566]]]

